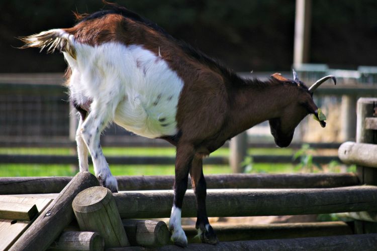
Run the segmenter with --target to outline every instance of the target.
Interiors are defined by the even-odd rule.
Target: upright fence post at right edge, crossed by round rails
[[[365,118],[372,117],[377,107],[377,98],[357,100],[356,143],[377,144],[377,131],[365,129]],[[377,169],[357,166],[356,174],[362,184],[377,185]],[[376,232],[377,223],[355,221],[356,233]]]

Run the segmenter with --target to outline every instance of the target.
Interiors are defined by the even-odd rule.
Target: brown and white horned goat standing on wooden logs
[[[187,245],[180,216],[190,174],[198,235],[215,244],[218,239],[206,212],[203,158],[265,120],[276,145],[287,147],[306,115],[319,117],[314,90],[325,80],[336,83],[336,79],[324,77],[310,88],[295,71],[293,80],[278,73],[266,81],[242,79],[153,22],[110,6],[79,17],[72,28],[23,37],[23,48],[64,54],[70,99],[80,113],[76,133],[80,171],[88,170],[89,152],[98,179],[117,192],[100,145],[101,132],[112,121],[137,135],[168,141],[176,147],[171,238],[177,245]],[[319,121],[324,127],[323,118]]]

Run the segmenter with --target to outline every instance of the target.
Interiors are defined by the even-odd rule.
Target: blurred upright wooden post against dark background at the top
[[[294,67],[309,62],[311,0],[296,0]]]

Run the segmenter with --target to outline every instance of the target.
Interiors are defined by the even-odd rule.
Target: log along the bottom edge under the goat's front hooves
[[[269,239],[269,240],[245,240],[219,242],[216,245],[211,244],[189,244],[184,249],[174,245],[163,246],[160,248],[145,247],[126,247],[126,248],[109,248],[107,251],[128,251],[128,250],[190,250],[190,251],[211,251],[211,250],[318,250],[318,251],[338,251],[338,250],[363,250],[372,251],[377,246],[377,234],[353,234],[327,237],[308,237],[308,238],[291,238],[291,239]]]

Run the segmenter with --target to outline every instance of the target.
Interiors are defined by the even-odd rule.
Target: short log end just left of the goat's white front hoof
[[[166,223],[156,220],[123,219],[130,244],[133,246],[162,246],[169,242]]]

